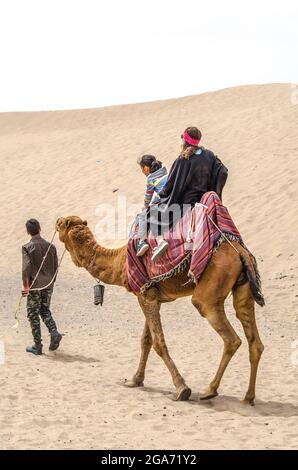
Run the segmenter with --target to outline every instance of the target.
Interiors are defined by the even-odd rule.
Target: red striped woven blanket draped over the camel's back
[[[211,220],[210,220],[211,219]],[[127,249],[127,275],[131,290],[144,291],[158,282],[174,276],[189,266],[189,276],[198,281],[206,268],[212,253],[224,238],[212,221],[230,240],[242,243],[231,216],[215,192],[204,194],[199,204],[189,208],[175,227],[164,234],[169,243],[167,252],[157,261],[151,261],[152,251],[157,242],[151,232],[148,234],[150,249],[142,257],[136,256],[137,226]]]

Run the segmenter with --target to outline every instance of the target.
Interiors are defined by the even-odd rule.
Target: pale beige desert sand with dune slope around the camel
[[[180,99],[101,109],[0,114],[1,449],[294,449],[298,446],[298,104],[287,84],[244,86]],[[107,286],[95,307],[94,281],[67,254],[52,311],[61,347],[25,352],[25,305],[13,329],[20,289],[24,222],[36,217],[51,238],[59,216],[79,215],[95,231],[96,208],[119,196],[141,206],[145,179],[136,165],[153,153],[168,167],[189,125],[228,166],[224,203],[258,260],[266,307],[257,307],[265,352],[256,406],[243,405],[249,361],[231,300],[227,314],[243,339],[220,387],[199,393],[218,365],[222,342],[190,298],[164,305],[170,353],[193,393],[174,402],[170,375],[151,353],[145,387],[134,374],[143,314],[135,297]],[[97,162],[97,160],[100,160]],[[99,240],[119,246],[125,240]],[[59,253],[62,244],[56,240]]]

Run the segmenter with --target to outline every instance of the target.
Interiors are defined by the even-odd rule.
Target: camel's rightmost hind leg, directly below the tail
[[[255,301],[249,284],[233,290],[233,304],[236,316],[241,321],[249,346],[250,380],[244,402],[254,404],[258,364],[264,350],[255,319]]]

